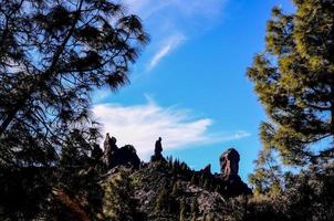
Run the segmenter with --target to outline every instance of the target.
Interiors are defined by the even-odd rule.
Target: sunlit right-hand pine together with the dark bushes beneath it
[[[265,52],[248,70],[269,120],[249,177],[255,196],[239,199],[232,220],[334,219],[334,2],[293,2],[293,14],[272,10]]]

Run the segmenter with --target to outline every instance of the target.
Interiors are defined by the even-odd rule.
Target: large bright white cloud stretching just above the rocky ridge
[[[134,145],[140,158],[147,159],[155,140],[163,137],[165,149],[185,148],[206,144],[241,139],[246,131],[209,133],[210,118],[195,118],[190,110],[161,107],[152,98],[143,105],[98,104],[93,107],[103,133],[117,138],[117,145]]]

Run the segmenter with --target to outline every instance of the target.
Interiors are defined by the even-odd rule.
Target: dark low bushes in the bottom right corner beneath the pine
[[[334,219],[334,165],[323,164],[285,177],[280,194],[229,199],[228,220],[294,221]]]

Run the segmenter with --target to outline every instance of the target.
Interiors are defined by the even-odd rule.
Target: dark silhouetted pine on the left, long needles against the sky
[[[105,0],[1,0],[0,21],[0,162],[54,165],[73,129],[98,136],[90,95],[128,83],[148,36]]]

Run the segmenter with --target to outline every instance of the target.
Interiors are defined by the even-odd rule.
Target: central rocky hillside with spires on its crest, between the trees
[[[59,204],[53,210],[56,219],[223,220],[229,198],[251,194],[236,173],[238,168],[233,168],[239,162],[234,149],[221,155],[221,171],[226,173],[211,173],[210,165],[195,171],[185,162],[165,159],[161,148],[149,162],[137,165],[135,149],[118,148],[108,136],[104,149],[95,167],[81,175],[98,177],[95,190],[91,186],[77,191],[84,194],[66,188],[54,191],[53,204]]]

